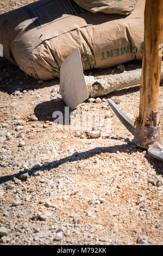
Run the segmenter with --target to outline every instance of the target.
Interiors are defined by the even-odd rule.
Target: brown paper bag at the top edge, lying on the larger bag
[[[130,14],[134,10],[137,0],[74,0],[80,7],[92,13]]]

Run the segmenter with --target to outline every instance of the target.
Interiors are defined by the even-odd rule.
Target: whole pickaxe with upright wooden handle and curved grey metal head
[[[122,124],[134,135],[135,144],[147,149],[149,155],[161,161],[163,161],[163,149],[159,85],[162,58],[159,56],[159,45],[162,42],[162,18],[163,0],[146,0],[139,117],[134,122],[112,100],[108,100]]]

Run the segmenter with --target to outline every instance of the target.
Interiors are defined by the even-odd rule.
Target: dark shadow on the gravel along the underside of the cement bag
[[[137,60],[132,60],[131,62],[124,64],[126,71],[141,68],[141,62]],[[108,69],[93,69],[85,70],[84,74],[91,76],[103,76],[110,75],[112,70],[115,70],[116,74],[122,73],[120,69],[116,66]],[[17,88],[22,88],[22,90],[34,90],[44,87],[50,87],[59,84],[59,78],[54,78],[54,80],[43,81],[43,83],[37,83],[37,80],[27,76],[18,66],[10,63],[5,58],[0,58],[0,90],[8,94],[15,92]]]

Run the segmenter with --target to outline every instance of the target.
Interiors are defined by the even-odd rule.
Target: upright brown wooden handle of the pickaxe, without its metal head
[[[162,42],[163,0],[146,0],[145,39],[140,86],[140,125],[158,126],[159,85],[161,60],[159,45]]]

